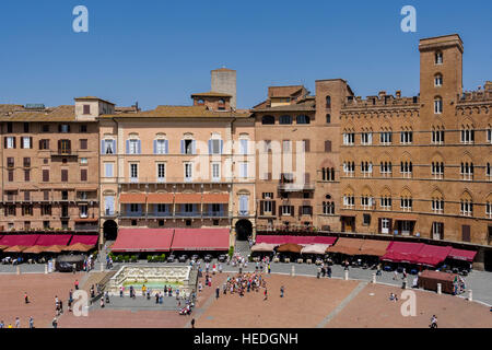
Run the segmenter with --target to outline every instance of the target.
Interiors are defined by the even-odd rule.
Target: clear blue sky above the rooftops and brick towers
[[[89,9],[89,33],[72,10]],[[417,33],[400,9],[417,9]],[[113,1],[0,2],[0,103],[72,104],[96,95],[143,108],[190,104],[210,70],[237,70],[237,106],[268,85],[343,78],[356,95],[419,92],[418,43],[458,33],[464,84],[492,80],[492,1]]]

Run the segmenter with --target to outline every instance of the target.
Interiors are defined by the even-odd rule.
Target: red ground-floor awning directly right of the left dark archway
[[[169,252],[173,229],[120,229],[113,252]]]

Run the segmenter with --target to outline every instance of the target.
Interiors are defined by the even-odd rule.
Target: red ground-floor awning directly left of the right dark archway
[[[173,250],[227,250],[229,229],[175,229]]]

